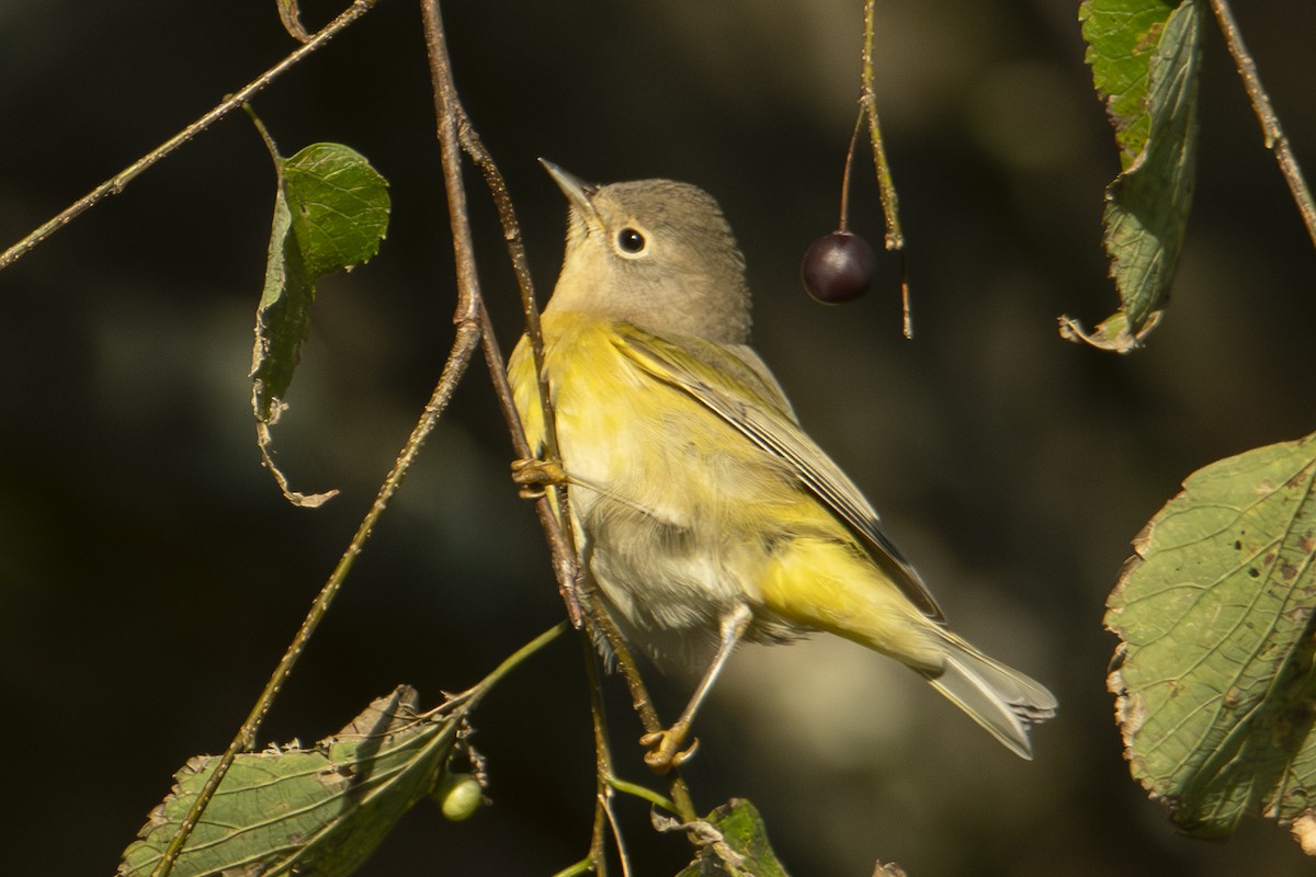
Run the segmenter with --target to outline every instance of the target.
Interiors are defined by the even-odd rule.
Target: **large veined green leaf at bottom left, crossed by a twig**
[[[446,776],[465,713],[416,713],[399,686],[312,748],[240,755],[174,868],[175,877],[342,877]],[[180,769],[175,788],[124,851],[120,877],[145,877],[205,784],[213,756]]]

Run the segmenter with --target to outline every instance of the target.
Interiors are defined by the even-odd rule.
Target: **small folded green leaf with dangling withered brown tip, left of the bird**
[[[257,310],[251,354],[251,406],[266,465],[284,494],[299,505],[318,505],[329,494],[288,489],[274,465],[270,427],[287,408],[283,398],[311,327],[316,281],[350,271],[379,251],[388,230],[388,183],[359,153],[341,143],[315,143],[292,158],[275,155],[279,185]]]

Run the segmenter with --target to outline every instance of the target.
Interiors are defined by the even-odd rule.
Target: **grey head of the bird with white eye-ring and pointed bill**
[[[547,310],[624,320],[655,334],[749,341],[745,256],[711,195],[674,180],[590,185],[540,160],[571,202]]]

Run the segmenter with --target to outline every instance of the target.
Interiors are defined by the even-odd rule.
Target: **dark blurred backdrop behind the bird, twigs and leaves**
[[[1250,5],[1250,4],[1242,4]],[[1177,836],[1129,780],[1104,692],[1105,594],[1129,539],[1194,469],[1313,427],[1316,259],[1219,36],[1175,300],[1120,358],[1061,341],[1113,309],[1100,249],[1109,129],[1073,4],[879,4],[878,93],[916,339],[895,266],[825,309],[799,258],[836,224],[859,76],[858,0],[450,3],[458,85],[509,180],[541,296],[565,208],[544,155],[594,180],[712,191],[757,296],[757,344],[812,434],[874,498],[957,630],[1059,696],[1037,760],[911,673],[817,640],[745,650],[700,722],[703,809],[762,809],[795,874],[1275,874],[1305,860],[1249,820]],[[308,3],[308,28],[336,12]],[[1316,168],[1316,7],[1241,8],[1299,159]],[[0,245],[292,49],[272,3],[0,3]],[[261,469],[246,372],[274,178],[241,116],[0,275],[0,693],[9,873],[107,874],[191,755],[228,743],[392,463],[451,342],[451,247],[413,3],[384,0],[257,100],[291,154],[333,139],[392,184],[380,255],[321,285]],[[880,238],[867,164],[851,225]],[[507,348],[519,309],[468,175]],[[562,617],[507,477],[476,363],[263,731],[304,742],[412,682],[470,685]],[[645,780],[611,680],[615,753]],[[672,714],[683,692],[666,692]],[[495,806],[409,814],[362,873],[547,874],[586,852],[580,648],[561,640],[476,715]],[[688,856],[620,805],[638,874]]]

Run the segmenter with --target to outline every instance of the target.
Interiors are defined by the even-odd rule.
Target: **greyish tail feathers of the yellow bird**
[[[983,726],[1008,749],[1033,757],[1029,727],[1055,715],[1055,697],[1016,669],[944,632],[945,668],[924,673],[932,686]]]

